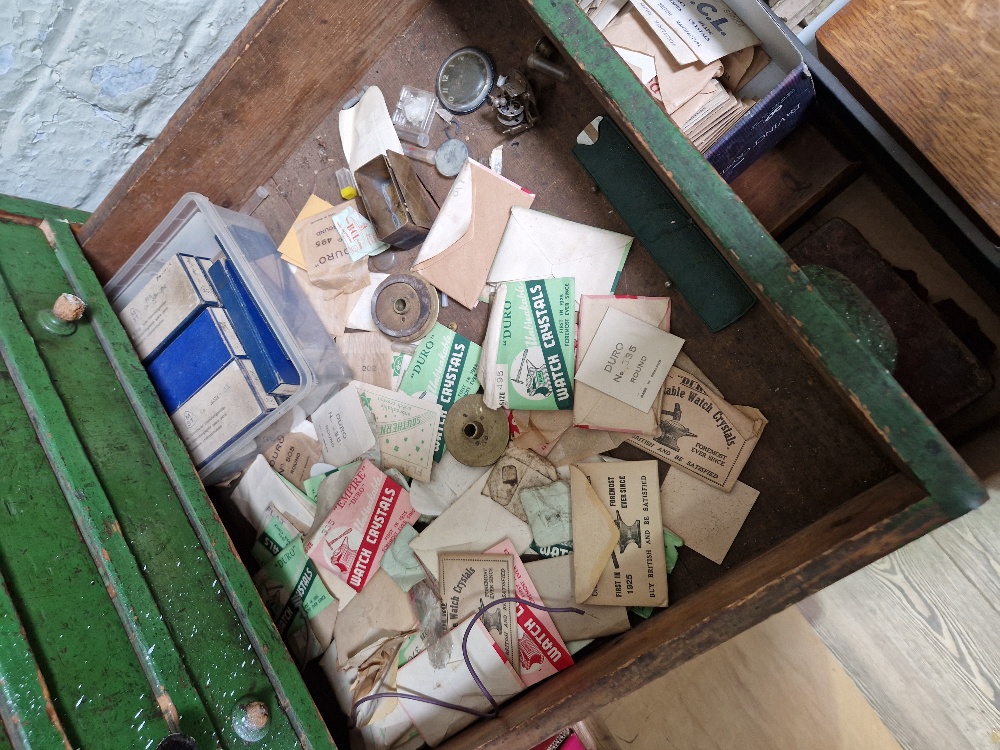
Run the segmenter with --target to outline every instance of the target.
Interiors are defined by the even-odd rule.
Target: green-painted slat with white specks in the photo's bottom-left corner
[[[0,720],[4,729],[17,737],[23,750],[70,748],[2,577],[0,644]],[[0,730],[0,750],[6,736],[6,731]]]

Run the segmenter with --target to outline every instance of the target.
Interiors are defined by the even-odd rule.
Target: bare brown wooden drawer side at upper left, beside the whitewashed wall
[[[425,4],[268,0],[80,231],[98,278],[187,192],[238,210]]]

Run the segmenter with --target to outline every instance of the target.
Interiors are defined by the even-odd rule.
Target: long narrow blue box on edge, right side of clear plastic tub
[[[299,372],[239,273],[223,257],[212,264],[208,275],[264,390],[273,396],[291,396],[301,382]]]

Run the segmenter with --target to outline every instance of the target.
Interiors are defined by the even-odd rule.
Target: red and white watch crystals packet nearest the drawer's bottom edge
[[[491,555],[512,555],[514,593],[534,604],[545,603],[528,577],[528,571],[524,569],[524,563],[510,539],[504,539],[486,552]],[[548,612],[519,603],[514,606],[517,613],[517,646],[521,656],[520,676],[521,681],[530,687],[566,669],[573,663],[573,657]]]

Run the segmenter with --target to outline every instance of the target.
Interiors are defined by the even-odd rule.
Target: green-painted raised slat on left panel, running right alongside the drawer
[[[261,666],[276,686],[276,699],[304,748],[335,748],[329,730],[313,703],[298,668],[288,655],[250,580],[246,567],[229,542],[218,515],[205,495],[184,444],[178,438],[146,371],[136,356],[118,317],[87,264],[65,222],[49,223],[56,256],[76,294],[88,301],[88,319],[117,373],[120,386],[145,430],[145,439],[163,466],[177,500],[184,508],[211,562],[221,587],[247,633]]]

